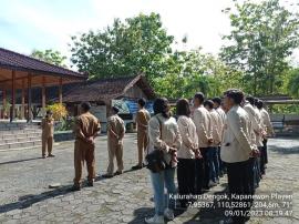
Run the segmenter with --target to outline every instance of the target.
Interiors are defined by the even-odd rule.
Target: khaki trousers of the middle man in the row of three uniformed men
[[[123,141],[118,141],[114,138],[107,139],[107,150],[109,150],[109,166],[107,174],[114,174],[114,157],[116,157],[117,171],[123,172]]]

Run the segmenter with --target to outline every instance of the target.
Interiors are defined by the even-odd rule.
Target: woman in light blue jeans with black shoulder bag
[[[181,147],[182,138],[178,131],[176,120],[171,116],[169,104],[167,99],[158,98],[155,100],[154,116],[148,123],[148,154],[154,150],[164,152],[164,160],[167,167],[161,172],[151,173],[152,185],[154,190],[155,215],[145,218],[147,224],[164,224],[164,216],[174,220],[174,212],[169,208],[169,196],[165,204],[164,187],[166,186],[168,194],[175,194],[175,166],[176,151]]]

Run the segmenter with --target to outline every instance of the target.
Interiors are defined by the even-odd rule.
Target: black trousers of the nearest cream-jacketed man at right
[[[231,202],[235,203],[236,206],[233,208],[234,214],[233,221],[234,223],[244,223],[246,220],[246,211],[250,210],[251,200],[239,200],[234,198],[233,195],[251,195],[250,190],[250,161],[237,162],[237,163],[226,163],[227,165],[227,177],[228,177],[228,189],[231,195]],[[243,206],[241,203],[247,203],[248,207]]]

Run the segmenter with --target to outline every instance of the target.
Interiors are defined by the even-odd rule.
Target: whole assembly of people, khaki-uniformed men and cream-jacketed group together
[[[174,220],[171,200],[167,194],[197,195],[219,183],[227,173],[230,194],[252,195],[265,174],[267,138],[274,135],[269,114],[264,103],[252,96],[245,99],[240,90],[228,90],[224,98],[206,100],[203,93],[196,93],[189,102],[179,99],[176,115],[165,98],[154,101],[154,115],[145,110],[145,100],[137,101],[136,113],[138,163],[133,170],[146,166],[146,154],[162,150],[169,164],[161,172],[150,171],[154,190],[155,215],[145,218],[148,224],[164,223],[164,217]],[[81,190],[82,166],[86,163],[87,185],[93,186],[95,179],[94,139],[101,130],[99,120],[89,111],[91,104],[81,104],[81,115],[75,119],[74,134],[74,185],[72,191]],[[118,109],[111,108],[107,120],[109,166],[103,177],[113,177],[123,173],[124,121],[117,115]],[[52,113],[42,121],[43,147],[45,156],[52,154],[53,119]],[[117,171],[114,172],[116,157]],[[177,171],[178,192],[175,185]],[[181,207],[187,207],[192,201],[181,200]],[[234,208],[237,210],[237,208]],[[231,223],[244,223],[241,215],[233,215]],[[229,221],[229,222],[230,222]],[[228,223],[229,223],[228,222]]]

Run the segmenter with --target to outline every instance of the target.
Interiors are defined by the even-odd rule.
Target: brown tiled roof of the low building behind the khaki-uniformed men
[[[134,84],[137,84],[148,99],[155,98],[153,89],[150,86],[144,75],[140,74],[135,77],[113,78],[82,83],[63,95],[63,102],[96,102],[117,99],[124,95]]]

